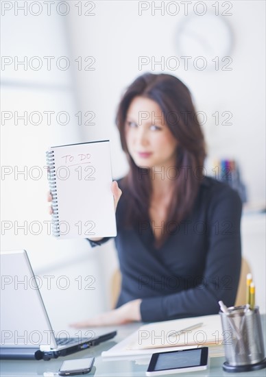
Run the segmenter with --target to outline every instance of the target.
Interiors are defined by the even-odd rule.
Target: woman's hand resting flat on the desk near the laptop
[[[113,311],[102,313],[86,321],[71,324],[73,328],[86,328],[90,326],[113,326],[141,321],[141,299],[127,302]]]

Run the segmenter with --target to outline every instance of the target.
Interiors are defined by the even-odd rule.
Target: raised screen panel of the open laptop
[[[25,250],[1,252],[1,346],[56,348],[56,339]]]

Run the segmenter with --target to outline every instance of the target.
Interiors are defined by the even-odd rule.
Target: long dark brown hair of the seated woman
[[[125,221],[128,226],[139,226],[141,221],[149,221],[152,197],[151,175],[147,174],[147,169],[136,166],[125,141],[125,119],[128,108],[132,99],[138,96],[152,99],[160,106],[169,130],[178,140],[176,178],[173,179],[176,190],[171,198],[166,220],[171,228],[171,223],[176,226],[189,215],[199,183],[204,176],[203,167],[206,157],[204,136],[197,121],[189,89],[177,77],[162,73],[145,73],[128,87],[120,101],[116,118],[121,145],[130,165],[130,171],[122,181],[128,198]],[[171,179],[173,173],[174,171],[171,173],[169,171]],[[162,241],[166,238],[167,232],[164,232]]]

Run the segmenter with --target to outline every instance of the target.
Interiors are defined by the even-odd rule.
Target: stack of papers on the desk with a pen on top
[[[191,330],[189,330],[191,328]],[[221,355],[222,328],[219,315],[206,315],[173,321],[156,322],[141,326],[110,350],[103,352],[104,357],[147,355],[154,352],[195,348],[213,345]]]

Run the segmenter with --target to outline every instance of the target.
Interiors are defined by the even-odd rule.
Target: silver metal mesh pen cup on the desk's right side
[[[232,306],[221,315],[226,372],[248,372],[266,367],[263,330],[258,306]]]

